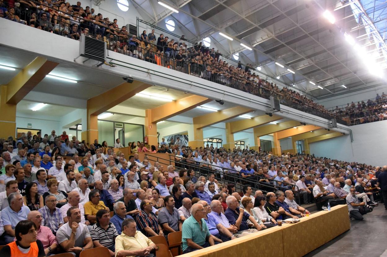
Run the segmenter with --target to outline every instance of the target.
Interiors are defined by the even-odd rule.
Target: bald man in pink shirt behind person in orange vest
[[[31,211],[28,213],[27,219],[35,223],[36,233],[38,233],[36,239],[39,239],[43,243],[45,254],[48,255],[52,252],[55,252],[58,248],[57,238],[49,227],[41,225],[43,218],[39,211]]]

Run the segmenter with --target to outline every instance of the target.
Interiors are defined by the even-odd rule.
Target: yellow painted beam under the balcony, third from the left
[[[163,104],[162,106],[153,108],[152,123],[158,123],[170,117],[182,114],[183,112],[194,109],[197,106],[211,102],[212,99],[200,95],[191,95],[182,99]]]

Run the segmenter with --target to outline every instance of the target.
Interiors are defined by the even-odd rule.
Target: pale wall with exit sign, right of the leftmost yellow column
[[[27,124],[31,123],[31,129],[41,129],[42,137],[44,134],[51,134],[55,129],[57,135],[62,134],[60,130],[60,117],[47,115],[23,114],[16,112],[16,128],[27,128]]]

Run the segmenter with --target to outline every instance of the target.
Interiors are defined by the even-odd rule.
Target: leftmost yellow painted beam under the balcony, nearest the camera
[[[58,64],[40,56],[36,57],[7,84],[7,104],[19,103]]]

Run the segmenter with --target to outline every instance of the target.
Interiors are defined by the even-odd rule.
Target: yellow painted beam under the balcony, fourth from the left
[[[211,125],[214,125],[219,122],[227,121],[229,119],[235,118],[237,116],[246,114],[248,112],[252,112],[253,110],[250,108],[236,106],[229,109],[224,109],[217,112],[211,112],[209,114],[204,114],[199,117],[194,117],[194,126],[196,129],[202,129]],[[251,119],[247,119],[251,120]],[[231,132],[233,133],[233,132]]]

